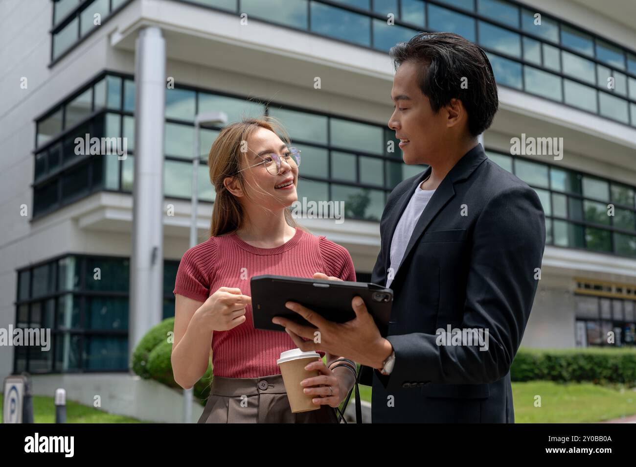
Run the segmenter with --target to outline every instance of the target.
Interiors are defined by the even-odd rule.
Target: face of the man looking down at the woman
[[[404,163],[409,165],[430,164],[448,131],[443,109],[433,113],[429,98],[418,87],[417,72],[421,68],[416,62],[401,64],[391,89],[395,110],[389,119],[389,128],[402,140],[399,147]]]

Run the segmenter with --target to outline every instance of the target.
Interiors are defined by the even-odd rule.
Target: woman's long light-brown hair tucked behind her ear
[[[214,237],[223,235],[224,233],[232,233],[242,227],[244,223],[244,210],[239,199],[225,188],[223,180],[226,177],[235,177],[238,179],[241,188],[245,188],[245,178],[241,169],[241,162],[247,156],[247,139],[259,128],[270,130],[277,134],[280,139],[289,146],[289,136],[273,117],[263,116],[261,118],[245,118],[240,122],[231,123],[219,133],[214,140],[212,148],[207,158],[210,171],[210,182],[216,191],[216,199],[214,200],[214,208],[212,209],[212,221],[210,224],[209,236]],[[257,187],[250,185],[258,190]],[[261,193],[268,193],[260,190]],[[245,195],[247,199],[251,198]],[[300,227],[294,221],[289,207],[285,207],[285,220],[291,227]]]

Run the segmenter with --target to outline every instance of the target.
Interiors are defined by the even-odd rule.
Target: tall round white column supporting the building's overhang
[[[159,27],[135,42],[135,176],[133,185],[128,356],[162,319],[163,127],[165,39]]]

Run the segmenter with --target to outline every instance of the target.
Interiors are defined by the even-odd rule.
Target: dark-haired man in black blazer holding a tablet
[[[541,202],[477,141],[498,106],[478,46],[421,33],[391,57],[389,127],[406,164],[430,167],[396,186],[380,221],[371,282],[394,292],[387,337],[356,298],[356,319],[344,324],[290,305],[319,329],[320,344],[298,337],[314,328],[275,320],[301,349],[365,365],[363,384],[373,373],[373,422],[514,422],[509,370],[537,289]]]

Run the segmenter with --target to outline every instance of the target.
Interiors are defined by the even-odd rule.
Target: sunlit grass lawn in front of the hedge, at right
[[[636,414],[636,389],[591,383],[513,382],[516,423],[590,423]],[[535,396],[541,407],[534,407]],[[371,401],[371,387],[360,386]]]

